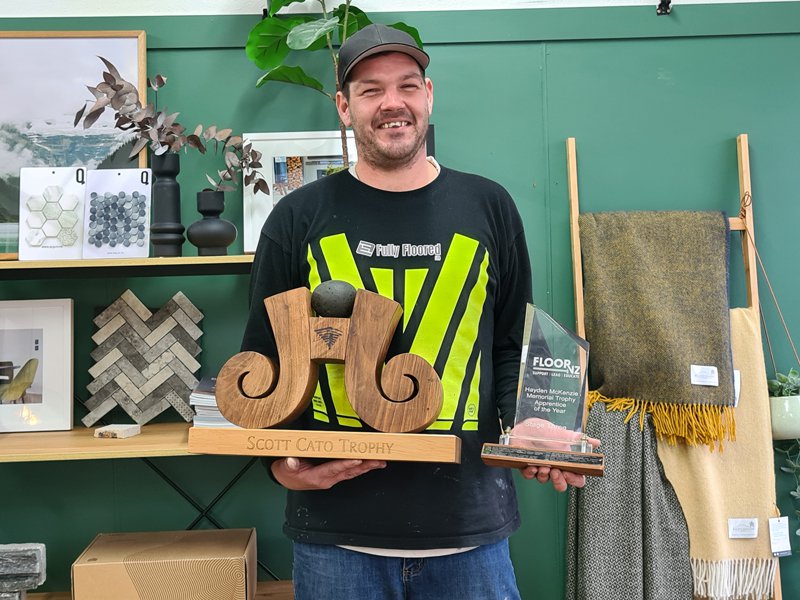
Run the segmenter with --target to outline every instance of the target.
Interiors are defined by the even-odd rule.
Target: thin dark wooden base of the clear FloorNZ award
[[[602,477],[605,469],[605,457],[595,452],[537,450],[507,444],[484,444],[481,459],[492,467],[545,466],[597,477]]]

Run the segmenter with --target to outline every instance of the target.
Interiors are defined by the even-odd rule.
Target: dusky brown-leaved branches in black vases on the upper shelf
[[[261,168],[261,153],[249,142],[244,141],[241,136],[232,135],[231,129],[219,129],[216,125],[208,128],[198,125],[192,133],[187,133],[186,128],[177,121],[179,113],[167,114],[165,111],[157,110],[153,104],[143,107],[136,86],[126,81],[111,62],[103,57],[99,58],[107,70],[103,72],[103,80],[100,83],[96,86],[87,86],[94,96],[94,103],[91,106],[86,103],[78,110],[74,124],[77,126],[82,122],[83,128],[88,129],[107,108],[110,108],[115,111],[115,127],[130,132],[136,139],[130,153],[131,158],[149,146],[150,166],[154,176],[153,223],[150,229],[155,256],[181,255],[184,228],[180,219],[180,187],[176,180],[180,171],[181,150],[194,148],[205,154],[207,147],[213,144],[214,151],[224,156],[225,168],[218,171],[214,177],[206,175],[211,187],[203,191],[215,192],[217,199],[213,208],[209,208],[207,212],[201,211],[204,214],[204,221],[206,218],[219,218],[224,206],[223,194],[234,189],[239,172],[243,173],[244,185],[251,186],[254,193],[269,194],[269,186],[258,171]],[[157,93],[166,82],[166,77],[156,75],[147,80],[147,85]],[[205,199],[202,205],[210,206]],[[225,230],[226,238],[230,237],[230,227],[215,226],[215,229],[218,232]],[[227,246],[235,237],[235,227],[233,227],[233,238],[227,243],[218,238],[211,240],[208,235],[202,235],[198,239],[202,239],[204,244],[213,242],[211,247],[214,250],[201,251],[200,254],[225,254]]]

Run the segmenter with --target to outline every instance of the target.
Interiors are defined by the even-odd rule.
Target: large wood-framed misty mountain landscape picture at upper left
[[[17,258],[22,167],[137,166],[129,134],[106,111],[89,129],[75,113],[111,61],[146,101],[144,31],[0,31],[0,259]],[[146,154],[139,155],[146,166]]]

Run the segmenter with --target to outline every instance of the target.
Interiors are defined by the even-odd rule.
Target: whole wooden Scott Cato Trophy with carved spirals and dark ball
[[[217,376],[217,404],[237,428],[192,427],[189,451],[206,454],[460,462],[460,439],[420,432],[436,420],[442,383],[414,354],[384,359],[402,308],[342,281],[264,300],[278,362],[240,352]],[[313,311],[312,311],[313,308]],[[318,316],[314,316],[314,312]],[[320,363],[344,363],[353,410],[376,432],[271,429],[308,407]]]

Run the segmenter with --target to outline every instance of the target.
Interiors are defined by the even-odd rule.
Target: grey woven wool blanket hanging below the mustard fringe
[[[606,408],[592,406],[587,424],[603,440],[605,476],[570,489],[565,600],[689,600],[689,534],[650,415],[639,429]]]

